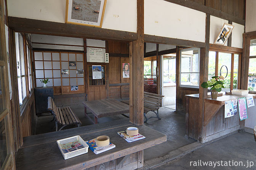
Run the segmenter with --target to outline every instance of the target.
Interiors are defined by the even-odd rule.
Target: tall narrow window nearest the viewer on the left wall
[[[24,46],[21,33],[15,33],[16,38],[16,60],[19,88],[19,104],[26,98],[26,77],[25,77],[25,61],[24,61]]]

